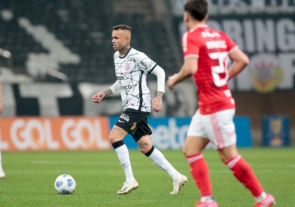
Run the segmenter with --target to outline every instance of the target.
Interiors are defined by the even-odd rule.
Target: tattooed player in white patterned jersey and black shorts
[[[109,141],[118,154],[120,163],[124,168],[126,182],[117,194],[127,194],[138,188],[134,179],[129,153],[123,138],[129,133],[137,142],[140,151],[149,157],[162,170],[166,171],[173,179],[173,191],[170,194],[178,194],[187,182],[187,177],[179,173],[166,160],[164,155],[156,149],[151,141],[147,115],[151,112],[150,91],[146,85],[146,75],[157,75],[158,92],[152,101],[153,111],[162,111],[162,96],[165,93],[165,72],[144,53],[130,47],[131,28],[126,25],[113,27],[113,48],[115,72],[117,81],[107,90],[92,96],[93,102],[100,101],[116,91],[121,91],[124,112],[113,126]]]

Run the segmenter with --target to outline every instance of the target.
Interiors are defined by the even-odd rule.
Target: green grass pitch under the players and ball
[[[240,148],[264,189],[276,198],[276,207],[295,206],[295,148]],[[6,173],[0,179],[0,206],[190,206],[200,199],[189,165],[181,151],[162,151],[166,159],[187,176],[180,194],[170,195],[172,179],[139,150],[129,150],[139,188],[117,195],[125,181],[115,151],[2,152]],[[254,199],[219,160],[215,150],[205,150],[213,194],[219,207],[250,207]],[[61,174],[76,180],[71,195],[55,192]]]

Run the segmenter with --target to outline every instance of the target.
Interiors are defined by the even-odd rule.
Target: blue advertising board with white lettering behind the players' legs
[[[111,127],[115,124],[119,117],[110,117]],[[148,122],[152,130],[150,139],[152,144],[158,149],[182,149],[188,126],[191,118],[153,118],[148,117]],[[234,123],[237,134],[238,147],[251,147],[250,119],[247,116],[235,117]],[[111,128],[110,127],[110,128]],[[137,143],[131,135],[124,138],[124,143],[128,148],[138,148]]]

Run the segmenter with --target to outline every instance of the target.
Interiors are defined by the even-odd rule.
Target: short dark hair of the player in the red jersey
[[[183,6],[184,11],[197,20],[203,20],[208,13],[208,3],[206,0],[189,0]]]

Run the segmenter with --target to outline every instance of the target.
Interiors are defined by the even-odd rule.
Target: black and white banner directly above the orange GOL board
[[[151,99],[156,97],[157,82],[148,81]],[[93,103],[92,96],[112,84],[94,83],[19,83],[1,82],[1,117],[14,116],[118,116],[123,112],[120,91]],[[173,91],[165,88],[162,113],[151,116],[192,116],[197,108],[196,84],[184,82]],[[190,101],[187,101],[190,100]]]

